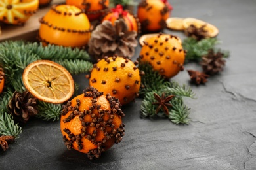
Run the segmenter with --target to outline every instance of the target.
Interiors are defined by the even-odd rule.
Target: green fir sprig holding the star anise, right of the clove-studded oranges
[[[188,124],[189,123],[189,111],[190,109],[184,104],[183,97],[194,98],[195,93],[192,89],[186,85],[180,85],[175,81],[164,80],[158,71],[154,71],[152,66],[149,63],[140,62],[140,70],[145,72],[145,75],[142,77],[142,84],[144,89],[140,90],[140,93],[144,94],[144,99],[140,107],[141,117],[154,118],[155,116],[166,117],[167,115],[160,110],[156,114],[157,105],[156,99],[154,98],[154,93],[161,96],[163,93],[165,95],[175,95],[169,103],[173,105],[169,108],[169,115],[167,116],[171,122],[174,124]],[[158,88],[160,87],[160,88]]]

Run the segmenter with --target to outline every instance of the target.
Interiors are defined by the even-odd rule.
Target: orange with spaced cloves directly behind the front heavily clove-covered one
[[[94,65],[89,84],[105,95],[110,93],[125,105],[139,95],[140,72],[128,58],[106,57]]]

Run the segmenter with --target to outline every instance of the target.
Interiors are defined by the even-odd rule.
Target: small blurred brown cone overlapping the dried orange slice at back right
[[[205,37],[209,37],[208,31],[204,29],[206,25],[202,25],[202,27],[198,28],[195,25],[191,24],[187,29],[185,29],[185,34],[188,37],[193,37],[194,39],[200,41]]]

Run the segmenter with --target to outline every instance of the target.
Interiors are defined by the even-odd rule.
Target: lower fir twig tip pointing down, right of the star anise
[[[173,107],[169,112],[168,118],[174,124],[188,124],[189,118],[188,115],[190,114],[190,109],[183,103],[182,99],[176,97],[175,99],[171,100],[171,104]]]

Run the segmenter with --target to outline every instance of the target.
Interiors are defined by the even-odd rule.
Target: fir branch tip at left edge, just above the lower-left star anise
[[[0,112],[0,135],[17,137],[22,133],[22,128],[14,123],[11,114]]]

